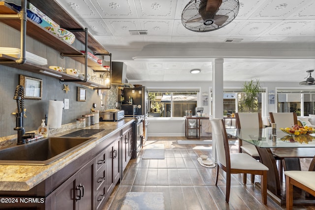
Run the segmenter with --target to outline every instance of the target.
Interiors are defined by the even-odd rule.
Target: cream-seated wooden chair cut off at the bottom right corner
[[[285,171],[286,209],[292,210],[293,185],[315,196],[315,171]]]

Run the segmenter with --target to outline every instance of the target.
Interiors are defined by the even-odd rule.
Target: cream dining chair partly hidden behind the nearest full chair
[[[235,119],[236,119],[236,128],[256,128],[260,129],[263,127],[262,125],[262,119],[261,119],[261,113],[235,113]],[[250,143],[243,142],[239,139],[239,152],[244,152],[249,155],[251,155],[256,160],[260,160],[259,153],[256,149],[256,147]],[[255,181],[255,176],[252,175],[251,177],[252,183]],[[246,184],[247,182],[247,174],[244,174],[243,176],[243,182]]]

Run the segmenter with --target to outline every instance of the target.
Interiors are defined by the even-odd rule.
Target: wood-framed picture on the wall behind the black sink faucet
[[[43,80],[20,75],[20,85],[24,87],[24,98],[40,100],[43,96]]]

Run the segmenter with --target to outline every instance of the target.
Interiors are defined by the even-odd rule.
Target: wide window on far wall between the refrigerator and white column
[[[198,91],[149,91],[150,117],[184,117],[191,110],[195,115]]]

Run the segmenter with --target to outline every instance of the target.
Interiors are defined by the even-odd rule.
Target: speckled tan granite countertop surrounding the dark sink
[[[28,191],[54,173],[61,170],[70,162],[93,149],[102,141],[113,135],[127,124],[134,121],[133,118],[122,120],[99,122],[98,124],[86,127],[85,129],[104,129],[103,131],[91,136],[95,138],[89,144],[74,150],[58,159],[57,161],[44,166],[38,165],[0,165],[0,190],[1,191]],[[82,128],[71,129],[52,136],[62,136]]]

